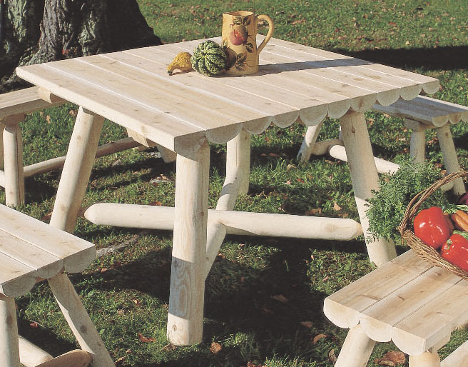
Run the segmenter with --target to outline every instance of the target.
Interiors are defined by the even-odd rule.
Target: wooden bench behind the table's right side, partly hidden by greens
[[[417,96],[411,101],[400,99],[386,107],[375,104],[372,110],[405,119],[405,126],[412,129],[409,155],[414,156],[415,161],[424,161],[426,144],[424,131],[437,129],[437,137],[447,173],[451,174],[460,170],[450,124],[457,124],[459,121],[468,122],[468,107],[426,96]],[[307,129],[297,159],[307,161],[311,154],[320,155],[329,152],[335,158],[347,161],[346,152],[340,139],[315,142],[320,132],[320,126],[321,124],[318,124]],[[377,158],[375,161],[377,171],[392,172],[398,169],[397,164]],[[453,189],[457,194],[464,193],[463,182],[461,180],[454,181]]]

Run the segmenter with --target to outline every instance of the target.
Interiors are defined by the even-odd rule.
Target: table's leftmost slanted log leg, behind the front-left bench
[[[78,110],[52,211],[51,226],[73,232],[93,168],[103,122],[103,117],[91,111],[82,107]]]

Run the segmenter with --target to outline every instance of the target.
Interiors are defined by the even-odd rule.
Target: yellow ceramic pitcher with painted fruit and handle
[[[257,46],[258,21],[268,21],[268,34]],[[222,45],[228,55],[226,74],[248,75],[258,71],[258,54],[273,35],[275,26],[268,15],[252,11],[223,13]]]

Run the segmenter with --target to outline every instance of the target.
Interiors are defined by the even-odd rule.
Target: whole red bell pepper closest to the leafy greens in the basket
[[[438,206],[419,211],[414,217],[413,226],[414,234],[427,246],[434,248],[442,246],[452,234],[447,218]]]

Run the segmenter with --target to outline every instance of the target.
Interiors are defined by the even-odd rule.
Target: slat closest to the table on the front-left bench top
[[[83,271],[96,258],[93,243],[49,226],[36,218],[3,205],[0,206],[0,218],[2,230],[63,259],[63,266],[70,273]]]

